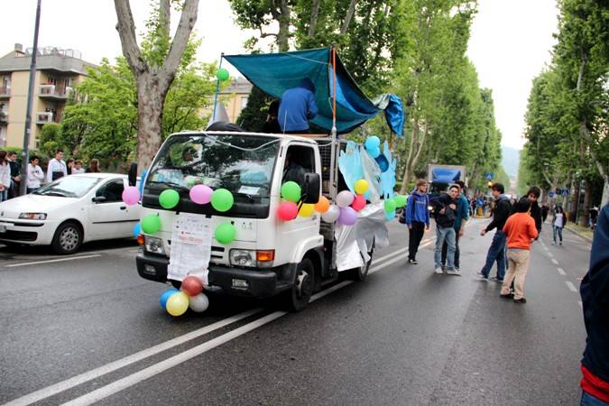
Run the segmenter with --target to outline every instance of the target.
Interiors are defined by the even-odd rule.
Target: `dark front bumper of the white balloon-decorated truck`
[[[169,258],[140,252],[135,259],[137,272],[144,279],[166,282]],[[290,265],[286,265],[290,267]],[[290,278],[280,281],[286,275],[284,266],[269,270],[231,268],[209,265],[208,281],[212,288],[220,288],[224,293],[236,296],[268,298],[290,288]],[[286,275],[287,276],[287,275]]]

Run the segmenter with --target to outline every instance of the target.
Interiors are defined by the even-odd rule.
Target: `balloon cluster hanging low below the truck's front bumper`
[[[203,293],[203,281],[194,275],[184,278],[180,291],[177,289],[164,291],[159,303],[161,308],[166,309],[174,317],[183,315],[189,308],[201,313],[209,307],[208,297]]]

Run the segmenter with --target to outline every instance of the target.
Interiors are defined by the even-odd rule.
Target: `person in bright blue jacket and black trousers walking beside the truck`
[[[406,205],[406,225],[408,226],[408,263],[417,264],[417,252],[425,230],[429,230],[429,195],[427,181],[417,180],[415,189]]]

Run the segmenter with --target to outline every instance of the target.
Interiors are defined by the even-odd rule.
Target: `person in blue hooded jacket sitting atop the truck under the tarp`
[[[315,85],[309,78],[300,80],[297,88],[283,92],[279,105],[279,125],[285,134],[309,133],[309,120],[318,115]]]

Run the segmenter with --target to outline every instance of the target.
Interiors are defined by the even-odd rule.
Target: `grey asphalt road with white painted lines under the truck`
[[[485,223],[470,223],[463,275],[449,276],[433,272],[433,232],[406,264],[393,222],[366,281],[300,313],[220,300],[171,318],[158,305],[167,286],[139,278],[131,243],[71,257],[0,248],[0,403],[577,404],[590,245],[565,233],[551,246],[545,225],[529,301],[514,304],[475,280]]]

